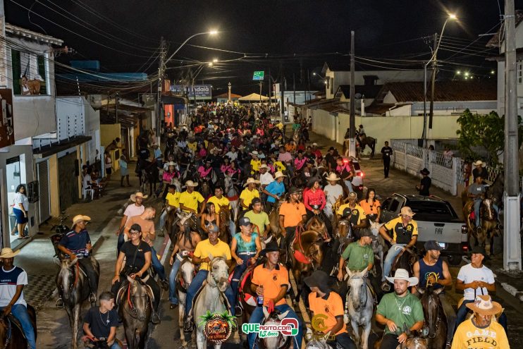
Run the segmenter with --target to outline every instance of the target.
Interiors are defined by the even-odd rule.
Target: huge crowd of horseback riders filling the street
[[[286,137],[283,124],[271,116],[268,106],[203,106],[190,125],[164,130],[164,152],[154,147],[151,154],[142,145],[137,174],[164,207],[155,227],[156,210],[143,204],[147,188],[132,195],[116,232],[113,303],[104,303],[104,313],[100,307],[107,324],[116,314],[112,307],[118,307],[128,348],[143,348],[149,321],[160,321],[160,286],[169,291],[171,309],[178,307],[182,344],[187,345],[185,333],[195,331],[199,349],[207,345],[198,326],[207,311],[225,311],[251,324],[296,319],[295,336],[262,338],[250,331],[247,341],[249,348],[300,348],[302,319],[285,300],[291,289],[293,300],[324,319],[323,339],[317,333],[305,336],[311,348],[367,349],[373,317],[385,326],[381,348],[483,348],[454,344],[453,336],[467,338],[460,337],[463,325],[457,325],[482,328],[485,316],[497,343],[505,343],[499,338],[506,337],[506,317],[498,316],[505,329],[491,322],[497,303],[488,292],[495,286],[481,247],[462,267],[474,272],[457,276],[464,302],[456,317],[444,293],[453,281],[440,259],[441,245],[426,242],[425,254],[417,257],[415,207],[403,207],[397,218],[380,224],[376,190],[369,188],[365,197],[355,191],[353,159],[333,147],[322,154],[316,143],[305,144],[302,132]],[[305,121],[295,123],[302,125],[298,131],[307,128]],[[154,190],[159,178],[161,186]],[[77,305],[97,300],[99,267],[90,257],[89,220],[76,216],[59,243],[64,259],[57,283],[63,285],[61,300],[70,303],[73,337]],[[154,251],[155,231],[171,238],[168,275]],[[466,320],[467,310],[474,312],[472,319]],[[106,337],[117,349],[114,335]],[[426,346],[409,346],[421,342]]]

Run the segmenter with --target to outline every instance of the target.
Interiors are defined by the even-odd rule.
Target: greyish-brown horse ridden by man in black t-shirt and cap
[[[147,278],[151,277],[150,275]],[[120,288],[117,296],[121,300],[118,312],[123,320],[125,340],[129,349],[145,348],[145,339],[149,331],[154,295],[144,280],[127,277],[128,283]]]

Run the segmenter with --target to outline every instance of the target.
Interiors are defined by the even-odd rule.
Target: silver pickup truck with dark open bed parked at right
[[[468,252],[467,225],[459,219],[452,205],[437,196],[402,195],[394,193],[381,204],[380,222],[386,223],[408,206],[418,224],[417,247],[422,250],[428,240],[436,240],[444,248],[441,255],[453,265],[460,264]]]

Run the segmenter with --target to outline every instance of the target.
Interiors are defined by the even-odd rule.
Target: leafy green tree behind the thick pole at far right
[[[518,116],[518,125],[521,124],[521,117]],[[489,114],[480,115],[472,114],[466,109],[459,118],[457,123],[460,129],[456,131],[459,135],[457,147],[460,149],[463,157],[480,158],[474,147],[483,147],[487,154],[486,159],[491,164],[498,164],[498,157],[503,153],[505,148],[505,116],[499,117],[496,111]],[[523,126],[519,125],[519,146],[522,143]]]

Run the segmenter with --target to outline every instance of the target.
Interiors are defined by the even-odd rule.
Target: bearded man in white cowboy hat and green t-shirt
[[[404,324],[407,330],[419,331],[423,327],[424,315],[422,302],[409,292],[409,288],[418,283],[416,277],[409,277],[408,271],[398,269],[394,277],[387,276],[387,280],[394,284],[394,292],[381,298],[376,322],[385,325],[380,349],[395,349],[407,340]]]

